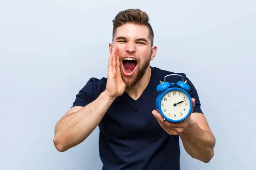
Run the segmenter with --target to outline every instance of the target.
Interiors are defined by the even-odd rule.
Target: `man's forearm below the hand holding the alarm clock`
[[[190,119],[188,127],[179,134],[186,152],[205,163],[214,155],[215,137],[212,133],[202,130],[198,124]]]

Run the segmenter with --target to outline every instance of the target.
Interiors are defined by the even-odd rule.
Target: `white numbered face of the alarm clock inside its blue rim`
[[[163,96],[161,109],[167,118],[178,120],[188,114],[190,104],[189,98],[184,92],[172,90]]]

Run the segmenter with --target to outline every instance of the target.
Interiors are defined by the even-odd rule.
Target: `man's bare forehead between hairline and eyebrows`
[[[129,39],[148,39],[149,29],[147,26],[126,23],[116,29],[115,37],[127,37]]]

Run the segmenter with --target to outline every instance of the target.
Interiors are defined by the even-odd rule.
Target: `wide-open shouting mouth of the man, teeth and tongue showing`
[[[137,67],[137,60],[131,57],[125,57],[122,61],[122,69],[125,75],[132,75]]]

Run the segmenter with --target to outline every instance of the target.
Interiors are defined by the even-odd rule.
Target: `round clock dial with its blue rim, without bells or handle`
[[[171,88],[160,97],[160,113],[169,121],[184,120],[192,110],[189,94],[180,88]]]

